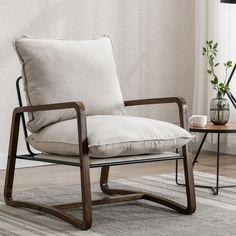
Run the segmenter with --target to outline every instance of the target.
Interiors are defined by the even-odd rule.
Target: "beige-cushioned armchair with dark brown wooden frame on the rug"
[[[27,106],[13,111],[4,196],[8,205],[52,214],[79,229],[92,224],[92,205],[146,199],[183,214],[196,208],[192,160],[188,143],[187,105],[183,98],[123,101],[108,37],[94,40],[46,40],[20,37],[14,46],[22,64]],[[18,81],[19,82],[19,81]],[[18,90],[19,92],[19,90]],[[79,102],[78,102],[79,101]],[[176,103],[180,126],[129,116],[128,106]],[[29,154],[17,155],[19,123],[28,113]],[[30,146],[40,151],[34,154]],[[173,150],[182,148],[181,153]],[[81,176],[81,203],[48,206],[12,198],[16,159],[77,166]],[[146,192],[112,189],[109,168],[115,165],[182,159],[187,205]],[[92,200],[90,168],[101,167],[100,186],[110,198]],[[59,173],[58,173],[59,174]],[[82,207],[77,219],[64,209]]]

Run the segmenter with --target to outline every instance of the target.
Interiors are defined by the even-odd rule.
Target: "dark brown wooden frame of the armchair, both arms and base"
[[[179,108],[179,118],[180,126],[188,129],[188,119],[187,119],[187,104],[183,98],[179,97],[168,97],[168,98],[154,98],[154,99],[142,99],[142,100],[132,100],[125,101],[125,106],[138,106],[138,105],[151,105],[151,104],[164,104],[164,103],[176,103]],[[50,159],[37,158],[37,155],[33,153],[27,155],[17,155],[17,144],[19,136],[19,126],[20,118],[24,112],[36,112],[36,111],[49,111],[49,110],[59,110],[59,109],[75,109],[77,114],[77,126],[78,126],[78,139],[79,139],[79,163],[70,162],[60,162]],[[82,102],[67,102],[58,104],[48,104],[39,106],[22,106],[17,107],[13,111],[12,115],[12,125],[9,143],[9,153],[7,161],[5,188],[4,188],[4,198],[5,202],[9,206],[13,207],[25,207],[34,210],[43,211],[66,221],[75,227],[86,230],[92,225],[92,205],[117,203],[122,201],[130,201],[137,199],[146,199],[166,207],[170,207],[182,214],[192,214],[196,209],[196,198],[195,198],[195,188],[193,180],[193,167],[192,167],[192,157],[188,146],[182,147],[181,155],[173,155],[162,158],[145,158],[136,159],[131,161],[117,161],[117,162],[100,162],[98,164],[93,164],[91,158],[89,157],[88,140],[87,140],[87,126],[86,126],[86,115],[85,107]],[[14,200],[12,197],[14,173],[15,173],[15,163],[16,159],[26,159],[35,161],[46,161],[49,163],[59,163],[65,165],[77,166],[80,169],[81,178],[81,196],[82,202],[80,203],[66,203],[61,205],[46,205],[40,203],[32,203],[25,201]],[[167,161],[167,160],[178,160],[183,159],[184,164],[184,174],[186,183],[186,197],[187,205],[181,205],[172,200],[156,196],[146,192],[137,192],[125,189],[112,189],[108,185],[109,169],[110,166],[114,165],[126,165],[144,162],[154,162],[154,161]],[[91,186],[90,186],[90,168],[102,167],[101,177],[100,177],[100,187],[103,193],[108,195],[114,195],[113,197],[106,197],[98,200],[91,199]],[[68,208],[82,207],[82,219],[77,219],[76,217],[66,213],[64,210]]]

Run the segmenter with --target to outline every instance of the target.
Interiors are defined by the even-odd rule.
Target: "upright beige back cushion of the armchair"
[[[70,41],[22,36],[14,41],[28,105],[82,101],[87,115],[123,115],[111,40]],[[73,119],[73,109],[29,114],[32,132]]]

